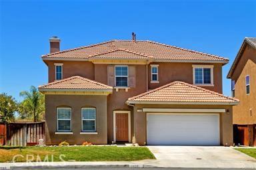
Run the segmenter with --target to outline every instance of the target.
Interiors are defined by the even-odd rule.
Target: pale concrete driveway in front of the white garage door
[[[147,146],[157,160],[142,161],[155,167],[256,169],[256,159],[233,147]]]

